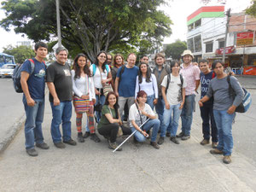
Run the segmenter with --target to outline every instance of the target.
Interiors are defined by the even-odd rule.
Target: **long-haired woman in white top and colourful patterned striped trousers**
[[[95,133],[93,119],[93,104],[96,102],[94,82],[90,75],[90,68],[86,62],[87,58],[84,54],[77,55],[73,62],[73,70],[71,71],[74,92],[73,104],[77,116],[76,125],[78,129],[78,141],[79,143],[84,143],[84,137],[82,133],[82,117],[85,111],[87,113],[90,138],[98,143],[101,140]],[[81,100],[86,100],[86,107],[81,105]]]

